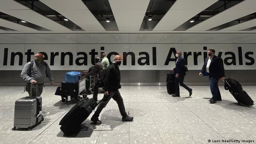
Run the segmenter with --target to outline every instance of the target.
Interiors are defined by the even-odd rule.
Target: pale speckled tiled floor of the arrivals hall
[[[65,137],[59,122],[74,103],[62,103],[56,87],[44,87],[42,93],[45,120],[31,131],[12,131],[14,102],[26,96],[23,87],[0,87],[0,143],[48,144],[193,144],[222,143],[222,140],[253,140],[256,143],[256,109],[236,105],[236,100],[220,86],[222,102],[210,104],[208,86],[191,86],[193,95],[181,88],[181,97],[167,94],[165,86],[123,86],[120,93],[132,122],[122,122],[116,102],[103,109],[102,125],[83,122],[76,137]],[[256,101],[256,86],[243,86]],[[102,98],[99,94],[99,98]],[[89,95],[89,98],[92,96]],[[220,142],[218,142],[220,140]],[[236,142],[230,142],[235,144]],[[240,143],[249,143],[241,142]]]

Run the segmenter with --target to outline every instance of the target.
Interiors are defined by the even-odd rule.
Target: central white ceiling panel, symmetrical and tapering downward
[[[139,31],[150,0],[109,0],[119,31]]]

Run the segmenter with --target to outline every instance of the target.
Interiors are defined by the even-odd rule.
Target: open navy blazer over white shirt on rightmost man
[[[201,69],[201,73],[206,73],[206,65],[209,57],[204,60],[204,65]],[[212,57],[210,67],[209,67],[209,76],[214,77],[215,79],[220,79],[221,77],[225,77],[223,60],[220,57],[214,56]]]

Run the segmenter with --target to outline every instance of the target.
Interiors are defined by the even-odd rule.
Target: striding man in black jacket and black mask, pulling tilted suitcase
[[[100,125],[101,121],[99,120],[99,114],[101,113],[102,109],[106,107],[109,100],[111,98],[117,102],[119,111],[121,113],[122,121],[132,121],[133,117],[129,117],[125,112],[124,101],[120,92],[118,91],[121,88],[120,85],[120,70],[119,66],[121,65],[122,58],[120,55],[116,55],[114,57],[114,62],[110,64],[105,70],[105,80],[104,80],[104,96],[102,102],[99,103],[97,110],[95,111],[93,117],[91,117],[91,121],[93,124]]]

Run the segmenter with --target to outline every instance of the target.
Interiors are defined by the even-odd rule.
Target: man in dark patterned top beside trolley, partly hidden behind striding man
[[[90,71],[89,73],[87,73],[85,76],[91,76],[91,75],[94,75],[93,79],[94,79],[94,86],[93,86],[93,99],[95,101],[98,101],[98,90],[99,90],[99,87],[98,87],[98,84],[97,84],[97,81],[98,81],[98,74],[99,72],[101,72],[103,69],[104,69],[104,65],[102,64],[101,61],[99,61],[99,58],[95,58],[94,59],[94,67],[93,67],[93,70]]]

